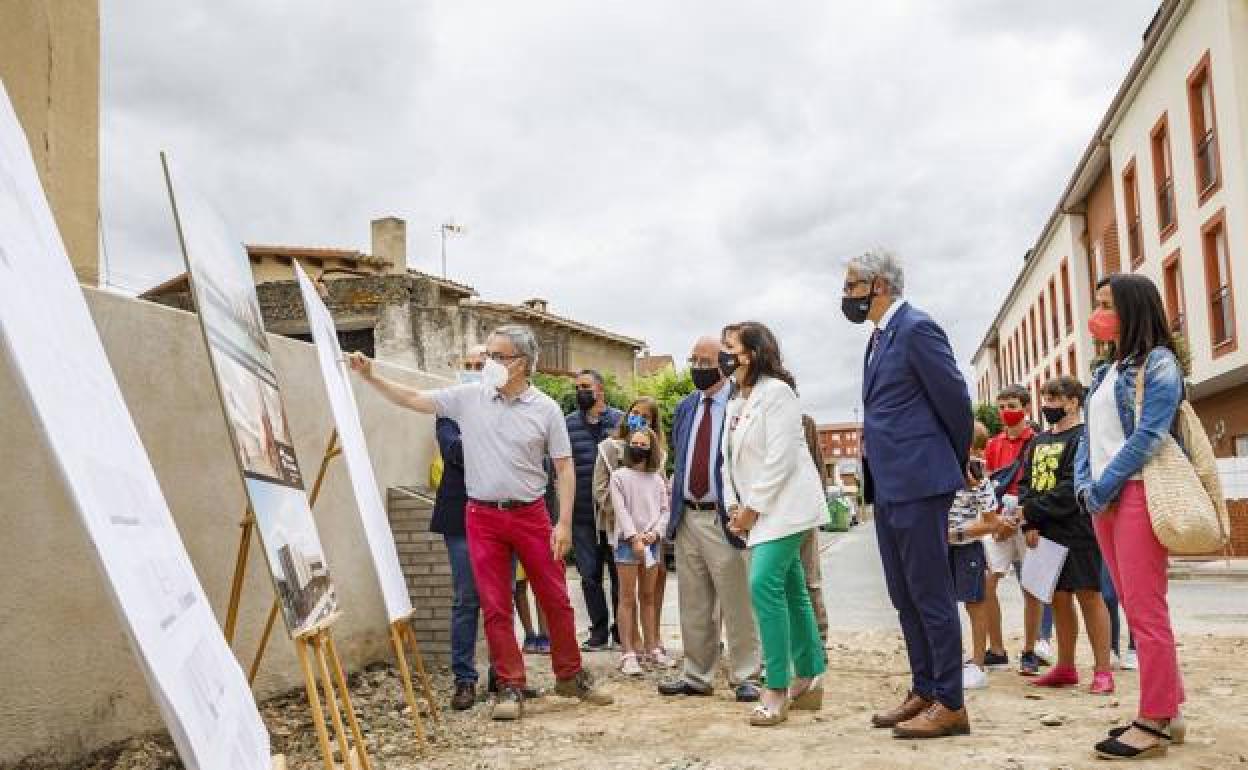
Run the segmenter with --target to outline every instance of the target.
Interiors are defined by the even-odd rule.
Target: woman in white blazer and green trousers
[[[806,593],[801,540],[827,519],[819,469],[810,459],[792,376],[775,336],[758,322],[729,326],[721,368],[738,389],[724,429],[724,502],[729,528],[750,545],[750,599],[759,621],[768,689],[750,714],[780,724],[789,708],[822,705],[826,668]]]

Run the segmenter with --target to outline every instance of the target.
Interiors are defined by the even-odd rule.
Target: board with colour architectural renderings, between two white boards
[[[166,161],[170,202],[238,469],[292,636],[337,609],[242,242]]]

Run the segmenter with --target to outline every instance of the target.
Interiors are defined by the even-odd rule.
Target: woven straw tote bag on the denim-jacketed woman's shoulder
[[[1136,374],[1136,426],[1144,403],[1143,367]],[[1192,404],[1178,406],[1177,427],[1187,453],[1169,433],[1144,463],[1144,495],[1153,534],[1174,555],[1203,555],[1228,544],[1227,502],[1213,444]],[[1189,459],[1191,458],[1191,459]]]

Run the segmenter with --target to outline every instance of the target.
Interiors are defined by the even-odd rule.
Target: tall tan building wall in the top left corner
[[[0,80],[79,281],[99,282],[100,5],[0,1]]]

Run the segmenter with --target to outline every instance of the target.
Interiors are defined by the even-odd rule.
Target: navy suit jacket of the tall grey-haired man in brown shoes
[[[864,494],[904,503],[966,485],[975,417],[948,338],[909,302],[864,357]]]

